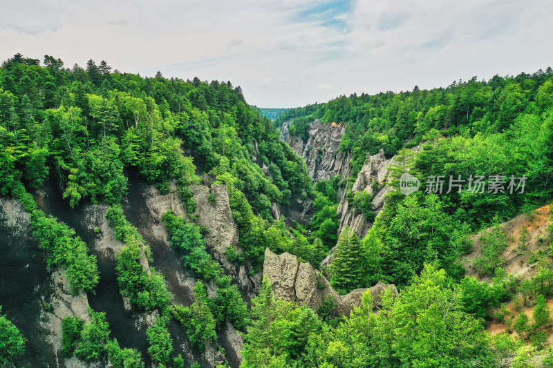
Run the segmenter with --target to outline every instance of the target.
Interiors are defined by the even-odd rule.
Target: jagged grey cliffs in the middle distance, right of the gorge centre
[[[342,178],[351,174],[350,156],[339,151],[341,137],[346,129],[345,125],[326,124],[316,119],[310,124],[309,137],[304,142],[301,137],[290,135],[290,122],[285,122],[281,130],[281,139],[303,159],[308,166],[308,173],[314,182],[329,180],[335,175]],[[386,185],[388,166],[394,163],[394,158],[386,159],[384,151],[376,155],[367,155],[366,161],[359,171],[352,191],[368,191],[373,196],[373,211],[378,213],[384,206],[384,197],[391,191]],[[338,215],[340,217],[340,231],[346,226],[355,229],[359,236],[364,237],[371,227],[371,223],[364,215],[350,206],[346,198],[346,190],[338,192]]]

